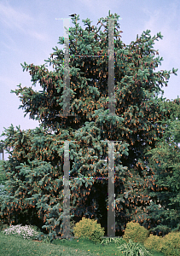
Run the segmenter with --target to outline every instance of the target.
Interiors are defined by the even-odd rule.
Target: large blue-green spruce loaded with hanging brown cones
[[[107,18],[119,18],[109,15]],[[75,20],[76,19],[76,20]],[[101,18],[97,24],[83,20],[85,29],[78,26],[78,16],[73,18],[74,27],[70,27],[69,55],[107,55],[108,23]],[[104,26],[104,31],[101,31]],[[162,58],[154,58],[154,40],[149,32],[142,32],[140,38],[130,45],[120,40],[119,23],[114,21],[114,84],[116,116],[108,115],[108,65],[107,58],[71,57],[70,67],[70,109],[76,116],[62,117],[63,105],[63,58],[61,49],[55,47],[47,66],[27,65],[33,84],[39,82],[43,90],[35,92],[31,88],[21,88],[12,92],[21,94],[20,99],[32,119],[38,119],[40,127],[35,130],[18,131],[13,125],[6,129],[4,148],[14,148],[4,170],[9,170],[9,200],[1,201],[3,218],[8,215],[14,221],[15,211],[36,209],[38,217],[44,221],[46,229],[53,239],[59,231],[62,220],[63,201],[63,143],[57,141],[76,141],[70,143],[70,177],[107,177],[108,168],[102,158],[107,157],[107,143],[102,140],[122,141],[115,143],[115,195],[116,195],[116,236],[121,236],[125,225],[132,218],[145,225],[149,224],[143,211],[149,205],[149,192],[155,186],[154,170],[147,168],[145,154],[155,147],[156,141],[163,137],[165,125],[156,122],[168,118],[169,109],[165,100],[155,94],[160,84],[165,86],[170,71],[155,73]],[[59,44],[63,44],[61,37]],[[172,69],[176,74],[177,70]],[[26,114],[25,114],[26,115]],[[55,134],[48,134],[49,128]],[[78,221],[85,214],[96,218],[102,226],[107,223],[107,180],[71,180],[71,215]],[[8,190],[8,189],[7,189]],[[102,191],[102,193],[99,193]],[[104,202],[104,203],[102,203]],[[93,208],[92,208],[93,207]],[[142,208],[143,207],[143,208]],[[103,222],[104,220],[104,222]],[[107,229],[106,229],[107,231]],[[50,238],[50,239],[51,239]]]

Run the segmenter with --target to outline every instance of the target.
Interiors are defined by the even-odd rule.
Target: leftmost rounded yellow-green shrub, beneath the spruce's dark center
[[[101,242],[104,236],[104,228],[97,224],[96,220],[82,218],[73,228],[74,236],[89,238],[91,241]]]

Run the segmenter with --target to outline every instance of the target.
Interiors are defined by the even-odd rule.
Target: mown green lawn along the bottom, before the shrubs
[[[125,243],[122,239],[122,243]],[[108,244],[107,246],[102,244],[95,244],[90,240],[83,238],[73,239],[72,241],[56,239],[52,243],[45,243],[44,241],[33,241],[23,237],[17,237],[15,235],[4,235],[0,232],[0,255],[4,256],[21,256],[21,255],[125,255],[121,253],[116,244]],[[163,253],[158,253],[148,250],[154,256],[164,256]],[[134,254],[135,255],[135,254]]]

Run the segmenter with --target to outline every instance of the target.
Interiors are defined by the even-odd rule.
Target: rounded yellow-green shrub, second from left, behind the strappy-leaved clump
[[[148,238],[149,231],[146,230],[138,223],[129,222],[126,224],[125,235],[123,239],[125,241],[129,241],[130,239],[134,242],[144,243],[144,241]]]

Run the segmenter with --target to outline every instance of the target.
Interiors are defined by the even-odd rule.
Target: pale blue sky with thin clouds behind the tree
[[[63,37],[63,21],[55,18],[67,18],[76,13],[79,15],[80,26],[82,20],[89,18],[96,26],[98,19],[106,17],[108,10],[120,15],[119,20],[121,40],[131,44],[143,31],[149,29],[151,36],[161,32],[163,39],[155,41],[154,49],[159,49],[163,57],[162,65],[155,72],[178,68],[177,76],[171,74],[167,87],[163,87],[167,99],[180,96],[180,1],[146,1],[146,0],[31,0],[31,1],[4,1],[0,2],[0,135],[11,124],[20,125],[21,130],[35,129],[38,121],[29,119],[29,113],[24,118],[21,102],[15,93],[10,90],[22,87],[31,87],[41,90],[39,84],[34,87],[31,76],[23,72],[20,63],[43,65],[44,60],[57,46],[59,37]],[[70,21],[70,26],[73,26]],[[52,70],[52,67],[49,67]],[[20,96],[20,95],[19,95]],[[25,109],[24,109],[25,111]],[[16,128],[15,128],[16,130]],[[5,139],[5,137],[0,137]],[[7,160],[8,154],[5,156]]]

